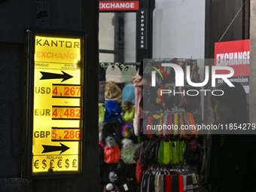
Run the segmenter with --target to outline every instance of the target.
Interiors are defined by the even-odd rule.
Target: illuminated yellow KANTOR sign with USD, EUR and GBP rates
[[[32,157],[27,166],[32,177],[82,172],[85,36],[64,34],[29,35],[33,79],[27,126],[32,127],[27,129]]]

